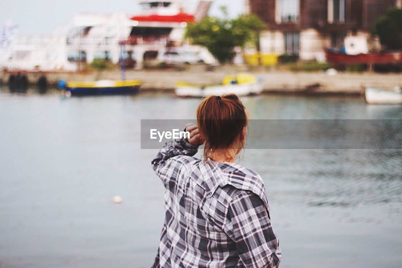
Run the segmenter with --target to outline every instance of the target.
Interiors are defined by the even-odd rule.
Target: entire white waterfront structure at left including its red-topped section
[[[191,50],[204,54],[206,49],[183,43],[187,23],[207,14],[210,1],[200,1],[195,12],[186,13],[181,0],[139,2],[139,14],[77,14],[46,36],[16,35],[0,46],[0,67],[9,70],[82,70],[94,59],[118,64],[127,62],[141,68],[144,59],[157,60],[168,49]],[[3,29],[2,36],[9,36]]]

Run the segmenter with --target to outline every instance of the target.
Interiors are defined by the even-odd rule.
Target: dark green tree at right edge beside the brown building
[[[390,7],[374,21],[373,34],[388,49],[402,49],[402,9]]]

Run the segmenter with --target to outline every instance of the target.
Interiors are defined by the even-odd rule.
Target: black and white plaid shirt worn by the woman
[[[152,161],[165,186],[166,218],[152,267],[278,267],[261,177],[240,165],[201,161],[187,139]]]

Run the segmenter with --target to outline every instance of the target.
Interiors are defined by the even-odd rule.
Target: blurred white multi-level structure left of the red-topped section
[[[132,21],[125,13],[77,14],[51,34],[16,35],[1,50],[0,66],[9,70],[74,71],[95,58],[119,62],[119,40]]]

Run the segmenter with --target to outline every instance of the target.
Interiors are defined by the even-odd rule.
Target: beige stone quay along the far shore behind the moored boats
[[[128,70],[127,80],[143,81],[141,91],[173,92],[176,82],[183,81],[193,84],[220,83],[228,74],[247,71],[263,80],[264,94],[297,94],[297,95],[361,95],[365,87],[393,89],[402,86],[402,73],[375,72],[338,72],[336,75],[326,75],[325,72],[290,72],[274,69],[246,68],[245,66],[213,66],[206,71],[204,65],[187,66],[187,70],[152,69]],[[15,72],[2,71],[2,84],[6,85],[8,77]],[[119,70],[100,72],[23,72],[29,85],[36,85],[41,76],[46,76],[49,86],[57,86],[61,79],[70,81],[93,81],[101,79],[120,80]]]

